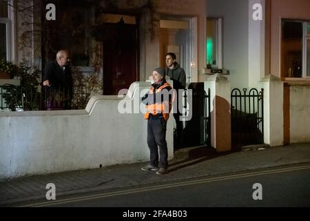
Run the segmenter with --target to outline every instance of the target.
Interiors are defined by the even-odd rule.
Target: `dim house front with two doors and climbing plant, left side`
[[[149,79],[154,67],[164,65],[167,50],[181,55],[188,82],[198,81],[204,67],[198,48],[205,41],[205,1],[9,2],[1,18],[7,25],[3,57],[44,70],[65,48],[76,75],[83,73],[83,80],[76,78],[92,84],[94,95],[117,95]]]

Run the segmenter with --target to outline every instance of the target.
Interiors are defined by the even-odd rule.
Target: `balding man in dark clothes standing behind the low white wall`
[[[48,94],[48,111],[71,108],[73,80],[68,61],[68,52],[59,50],[56,61],[50,62],[45,68],[43,86],[48,86],[45,90]]]

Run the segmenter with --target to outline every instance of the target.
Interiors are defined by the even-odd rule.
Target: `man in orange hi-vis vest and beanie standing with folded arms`
[[[167,121],[174,101],[174,90],[165,79],[165,70],[155,68],[152,72],[154,84],[142,98],[146,104],[147,145],[149,146],[149,164],[143,171],[156,171],[156,174],[167,173],[168,148],[166,142]],[[158,155],[159,149],[159,155]]]

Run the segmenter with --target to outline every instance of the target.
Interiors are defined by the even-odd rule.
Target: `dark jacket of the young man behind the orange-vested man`
[[[186,86],[185,70],[181,68],[177,62],[174,62],[173,69],[166,67],[165,72],[166,72],[166,75],[168,75],[174,82],[174,85],[173,85],[174,89],[176,90],[185,89],[185,86]]]

